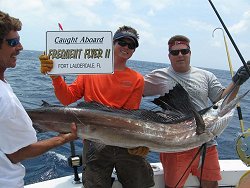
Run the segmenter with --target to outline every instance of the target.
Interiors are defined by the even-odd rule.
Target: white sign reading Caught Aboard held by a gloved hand
[[[111,31],[47,31],[46,54],[53,60],[50,75],[114,72]]]

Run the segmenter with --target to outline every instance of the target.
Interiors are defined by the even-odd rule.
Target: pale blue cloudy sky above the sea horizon
[[[250,0],[212,0],[245,61],[250,60]],[[208,0],[0,0],[0,10],[19,18],[25,50],[44,51],[46,31],[112,31],[123,25],[139,33],[132,60],[169,63],[167,42],[187,36],[191,65],[229,70],[222,25]],[[242,62],[227,34],[233,69]]]

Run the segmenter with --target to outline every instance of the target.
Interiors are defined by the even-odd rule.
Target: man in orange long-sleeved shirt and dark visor
[[[144,80],[141,74],[126,66],[127,60],[139,46],[138,33],[129,26],[120,27],[114,34],[114,74],[79,75],[67,85],[61,76],[52,76],[55,94],[64,105],[82,97],[114,108],[138,109]],[[50,71],[52,60],[41,56],[41,72]],[[86,143],[86,142],[85,142]],[[88,143],[88,142],[87,142]],[[86,145],[84,146],[86,148]],[[154,185],[153,171],[145,156],[149,149],[107,146],[90,142],[85,149],[86,167],[83,173],[85,188],[111,187],[111,174],[116,169],[123,188],[147,188]]]

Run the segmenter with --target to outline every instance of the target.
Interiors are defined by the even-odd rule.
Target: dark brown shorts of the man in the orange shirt
[[[111,188],[113,168],[123,188],[154,186],[154,173],[145,158],[131,155],[126,148],[91,142],[83,171],[85,188]]]

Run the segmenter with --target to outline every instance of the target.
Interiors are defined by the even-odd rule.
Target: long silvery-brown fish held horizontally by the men
[[[178,87],[173,90],[166,97],[180,92]],[[75,122],[78,136],[82,139],[124,148],[147,146],[155,152],[180,152],[201,146],[221,134],[242,97],[237,97],[223,108],[223,100],[220,100],[200,111],[204,127],[199,133],[197,118],[192,113],[186,112],[185,107],[171,107],[171,103],[183,99],[180,95],[171,96],[172,102],[166,101],[172,109],[165,109],[164,113],[114,109],[93,102],[83,102],[76,107],[45,105],[27,110],[27,113],[38,130],[66,133],[70,132],[70,123]],[[190,109],[190,104],[185,105]]]

